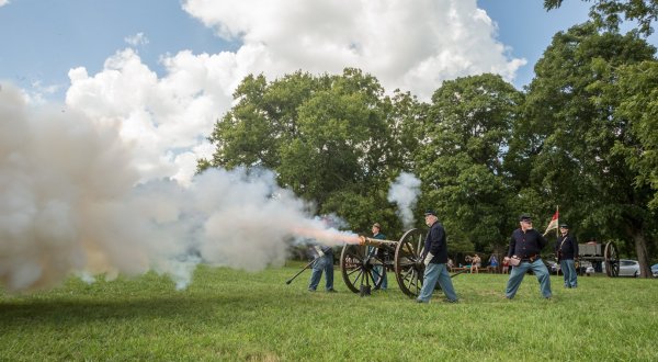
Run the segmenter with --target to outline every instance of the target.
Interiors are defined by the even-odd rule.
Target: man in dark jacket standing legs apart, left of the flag
[[[506,260],[512,265],[512,272],[508,280],[504,296],[511,299],[517,294],[523,276],[529,269],[532,269],[540,282],[542,296],[549,299],[553,296],[551,292],[551,274],[544,262],[540,258],[540,252],[546,246],[546,239],[532,228],[532,218],[529,215],[519,217],[520,227],[512,233],[510,248]],[[518,264],[514,263],[518,261]]]

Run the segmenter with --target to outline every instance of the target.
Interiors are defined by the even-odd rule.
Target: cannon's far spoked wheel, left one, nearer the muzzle
[[[383,264],[378,258],[366,258],[367,246],[345,244],[340,253],[340,270],[348,289],[354,293],[361,292],[361,285],[372,285],[378,290],[386,275],[386,268],[381,271],[375,265]],[[382,273],[382,275],[379,275]],[[375,276],[378,278],[375,283]]]

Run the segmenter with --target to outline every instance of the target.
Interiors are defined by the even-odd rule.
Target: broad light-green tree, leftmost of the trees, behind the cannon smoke
[[[337,213],[359,230],[373,219],[399,228],[386,200],[390,181],[411,166],[412,133],[423,106],[409,93],[385,94],[359,69],[313,76],[297,71],[268,82],[249,76],[216,123],[208,167],[265,167],[282,186]]]

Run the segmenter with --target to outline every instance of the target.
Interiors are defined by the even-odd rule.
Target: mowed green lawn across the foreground
[[[658,280],[581,276],[554,298],[526,275],[453,279],[460,304],[417,304],[397,290],[360,297],[306,291],[303,263],[247,273],[200,267],[190,287],[167,276],[0,292],[1,361],[658,361]],[[322,281],[324,283],[324,281]]]

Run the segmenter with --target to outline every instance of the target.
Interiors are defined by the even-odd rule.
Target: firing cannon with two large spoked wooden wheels
[[[424,274],[424,234],[420,229],[406,231],[399,241],[365,236],[360,239],[359,245],[344,245],[340,253],[341,274],[350,291],[363,293],[363,286],[371,287],[371,283],[378,290],[384,275],[393,271],[402,293],[409,297],[420,294]]]

